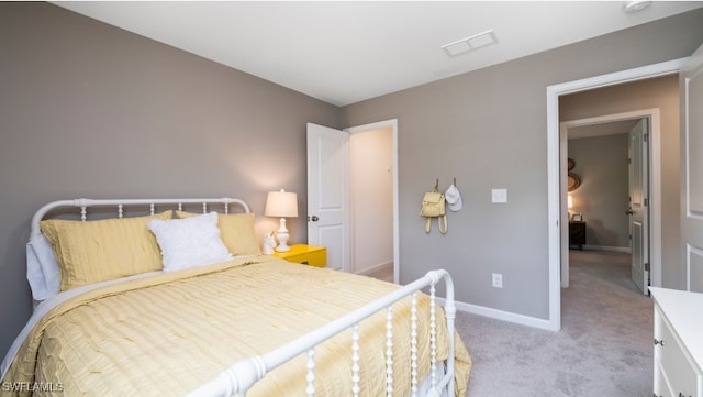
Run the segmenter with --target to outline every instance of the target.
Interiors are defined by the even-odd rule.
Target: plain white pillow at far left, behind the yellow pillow
[[[60,290],[62,273],[44,234],[33,235],[26,244],[26,279],[34,300],[51,298]]]

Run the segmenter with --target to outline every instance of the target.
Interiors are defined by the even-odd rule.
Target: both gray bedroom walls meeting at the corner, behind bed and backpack
[[[546,87],[690,55],[703,10],[343,109],[46,3],[0,2],[0,352],[31,311],[29,221],[68,197],[266,191],[305,208],[306,122],[399,120],[401,280],[443,266],[461,301],[547,318]],[[425,235],[423,191],[464,210]],[[492,205],[490,190],[507,188]],[[290,220],[305,240],[304,218]],[[504,288],[490,287],[491,273]]]

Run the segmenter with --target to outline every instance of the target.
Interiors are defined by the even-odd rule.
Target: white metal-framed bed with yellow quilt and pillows
[[[398,286],[261,255],[238,199],[51,202],[27,279],[0,396],[464,396],[469,379],[445,271]]]

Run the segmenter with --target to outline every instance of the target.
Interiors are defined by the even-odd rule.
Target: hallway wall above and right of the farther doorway
[[[699,41],[700,42],[700,41]],[[661,282],[663,287],[685,287],[681,257],[681,156],[679,76],[671,75],[559,98],[559,120],[578,120],[644,109],[659,109],[661,158]]]

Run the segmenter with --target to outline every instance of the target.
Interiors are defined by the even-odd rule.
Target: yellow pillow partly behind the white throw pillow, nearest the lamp
[[[176,211],[178,218],[199,213]],[[217,213],[220,238],[232,255],[260,255],[261,247],[254,232],[254,213]]]

